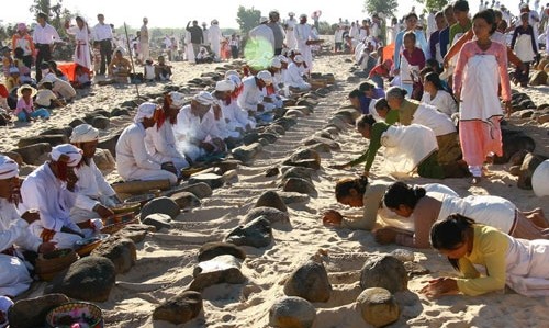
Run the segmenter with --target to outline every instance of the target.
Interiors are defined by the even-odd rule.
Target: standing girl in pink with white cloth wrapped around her
[[[507,48],[490,39],[495,27],[491,11],[483,10],[473,16],[477,39],[461,48],[453,75],[455,95],[461,102],[459,139],[463,159],[473,174],[473,184],[480,182],[486,156],[503,155],[500,84],[505,106],[511,110]]]

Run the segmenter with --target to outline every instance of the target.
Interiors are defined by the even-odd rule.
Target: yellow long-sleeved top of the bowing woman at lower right
[[[481,295],[505,287],[508,236],[496,228],[474,225],[473,249],[459,259],[459,270],[463,278],[458,279],[458,289],[466,295]],[[481,276],[473,264],[486,268]]]

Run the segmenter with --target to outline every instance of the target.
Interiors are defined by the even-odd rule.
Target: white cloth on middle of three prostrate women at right
[[[452,213],[474,219],[479,224],[497,228],[509,234],[516,217],[516,206],[512,202],[491,195],[471,195],[464,199],[444,197],[438,220]]]

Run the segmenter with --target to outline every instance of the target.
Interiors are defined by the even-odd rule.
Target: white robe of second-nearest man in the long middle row
[[[173,126],[166,118],[160,128],[155,126],[147,128],[145,137],[145,148],[147,152],[157,162],[172,162],[178,171],[188,168],[189,162],[184,156],[177,150]]]

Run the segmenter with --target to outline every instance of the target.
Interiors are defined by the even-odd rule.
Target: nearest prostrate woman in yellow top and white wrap
[[[460,214],[436,223],[430,244],[462,278],[438,278],[421,293],[429,297],[462,293],[481,295],[505,285],[525,296],[549,295],[549,240],[517,239]],[[485,274],[474,264],[483,265]]]

